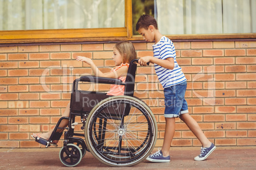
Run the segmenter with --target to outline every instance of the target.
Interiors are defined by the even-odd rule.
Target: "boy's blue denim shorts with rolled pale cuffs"
[[[188,104],[185,100],[187,81],[181,82],[169,88],[164,88],[164,117],[180,117],[188,113]]]

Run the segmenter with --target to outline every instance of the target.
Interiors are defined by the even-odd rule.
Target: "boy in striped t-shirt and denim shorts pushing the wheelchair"
[[[176,62],[173,42],[160,34],[157,21],[150,15],[142,15],[139,18],[136,30],[146,41],[155,41],[155,44],[153,44],[154,56],[140,58],[139,64],[145,66],[147,62],[154,63],[155,72],[164,88],[164,103],[166,106],[164,110],[166,129],[162,150],[148,156],[147,160],[170,162],[169,149],[175,131],[175,117],[180,117],[203,145],[201,154],[195,157],[194,160],[205,160],[216,147],[206,138],[197,122],[188,114],[187,101],[184,99],[187,79]]]

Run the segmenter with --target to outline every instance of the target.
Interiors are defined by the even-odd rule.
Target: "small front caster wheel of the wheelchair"
[[[61,148],[59,157],[65,166],[76,166],[82,160],[82,151],[75,144],[68,143],[66,147]]]

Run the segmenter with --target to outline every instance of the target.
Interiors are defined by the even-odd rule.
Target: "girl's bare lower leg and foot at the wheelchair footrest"
[[[66,109],[64,110],[63,114],[62,114],[62,117],[69,117],[69,108],[70,108],[70,103],[68,103]],[[60,128],[65,128],[66,126],[68,126],[68,120],[64,119],[60,122],[60,125],[59,127]],[[53,128],[54,129],[54,128]],[[40,133],[40,134],[34,134],[33,133],[33,136],[36,138],[36,136],[39,136],[40,138],[43,138],[45,140],[49,140],[52,132],[53,132],[53,129],[51,129],[50,131],[46,132],[46,133]],[[62,132],[64,129],[60,129],[60,131],[57,131],[57,132]],[[54,143],[57,143],[58,141],[54,141]]]

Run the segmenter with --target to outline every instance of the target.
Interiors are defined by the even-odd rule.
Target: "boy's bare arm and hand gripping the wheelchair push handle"
[[[155,58],[153,56],[143,56],[139,59],[140,65],[145,66],[147,62],[155,63],[155,64],[160,65],[161,67],[164,67],[169,70],[174,69],[174,60],[171,57],[161,60],[161,59]]]

